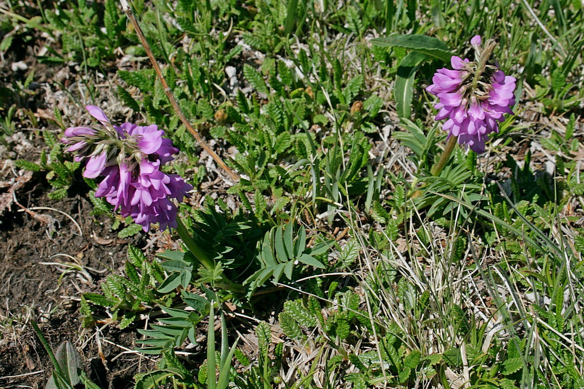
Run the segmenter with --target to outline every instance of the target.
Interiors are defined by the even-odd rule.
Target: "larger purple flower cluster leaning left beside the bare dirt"
[[[145,127],[133,123],[112,125],[101,108],[86,106],[100,125],[71,127],[65,130],[61,141],[71,146],[75,160],[86,160],[84,177],[105,178],[95,192],[120,209],[121,215],[131,216],[144,231],[151,223],[159,223],[161,230],[176,228],[175,198],[189,197],[193,186],[178,174],[166,174],[160,168],[174,159],[179,149],[157,125]]]

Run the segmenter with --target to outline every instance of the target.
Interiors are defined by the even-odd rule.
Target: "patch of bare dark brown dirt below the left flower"
[[[15,191],[19,204],[30,213],[13,203],[0,215],[0,389],[44,388],[50,376],[50,360],[34,335],[31,320],[39,323],[54,350],[63,341],[74,344],[89,376],[102,388],[131,387],[131,377],[152,365],[131,353],[121,355],[123,349],[109,342],[132,348],[135,334],[107,327],[98,341],[95,330],[81,327],[79,296],[98,290],[100,279],[123,265],[128,243],[144,246],[144,241],[140,235],[117,239],[110,230],[112,220],[91,215],[86,194],[69,193],[61,201],[52,201],[48,191],[43,173],[35,173]],[[54,210],[32,209],[40,206]],[[74,218],[83,235],[57,210]],[[86,274],[63,274],[65,267],[41,262],[78,262]]]

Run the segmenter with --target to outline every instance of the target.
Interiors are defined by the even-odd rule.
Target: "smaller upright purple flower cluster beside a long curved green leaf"
[[[506,76],[498,66],[489,65],[488,59],[495,47],[493,40],[481,49],[481,37],[475,36],[471,45],[477,51],[476,62],[453,56],[451,69],[439,69],[432,78],[427,92],[440,101],[436,120],[448,118],[442,129],[450,136],[458,136],[458,143],[470,146],[477,153],[485,151],[488,134],[499,132],[503,114],[512,114],[515,104],[513,91],[515,77]]]

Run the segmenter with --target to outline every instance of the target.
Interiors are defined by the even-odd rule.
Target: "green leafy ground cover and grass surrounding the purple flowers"
[[[168,171],[195,187],[185,225],[150,235],[184,246],[129,246],[79,296],[86,328],[137,332],[124,346],[157,360],[136,388],[584,387],[582,3],[131,6],[217,159],[113,0],[0,6],[2,57],[39,47],[0,86],[0,125],[46,126],[29,135],[40,159],[16,166],[46,175],[52,199],[86,185],[95,217],[112,206],[58,141],[92,122],[86,104],[181,150]],[[456,146],[433,174],[447,133],[425,87],[450,55],[472,59],[477,34],[517,78],[515,114],[485,153]],[[55,358],[53,387],[98,387],[70,344]]]

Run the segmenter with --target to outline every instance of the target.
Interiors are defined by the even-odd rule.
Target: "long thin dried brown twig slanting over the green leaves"
[[[126,0],[120,0],[120,3],[122,10],[124,11],[124,13],[126,13],[126,16],[128,17],[128,20],[130,20],[130,23],[132,23],[132,25],[134,26],[136,34],[138,34],[138,38],[140,38],[140,43],[142,43],[142,46],[144,46],[144,50],[146,51],[148,58],[150,58],[150,62],[152,62],[152,66],[154,67],[154,70],[158,75],[158,79],[160,79],[160,82],[162,83],[164,93],[168,97],[168,100],[171,102],[173,110],[175,110],[176,114],[179,115],[180,121],[182,121],[185,127],[189,130],[189,132],[193,134],[194,139],[196,139],[197,142],[199,142],[199,145],[207,153],[209,153],[211,157],[213,157],[213,159],[221,167],[221,169],[225,170],[231,176],[232,180],[234,180],[235,182],[239,181],[239,176],[237,175],[237,173],[231,170],[230,167],[227,166],[225,162],[223,162],[223,160],[213,151],[213,149],[211,149],[208,143],[205,142],[203,138],[201,138],[199,132],[197,132],[197,130],[194,129],[193,126],[189,123],[189,121],[185,117],[185,114],[183,114],[182,110],[180,109],[179,104],[176,103],[175,96],[172,94],[172,90],[168,86],[168,83],[166,83],[164,75],[162,75],[160,66],[158,65],[156,58],[154,58],[154,54],[152,54],[152,49],[150,48],[150,45],[148,44],[148,41],[146,40],[144,33],[142,33],[142,29],[140,29],[140,25],[138,24],[136,18],[134,17],[134,13],[132,12],[130,5]]]

